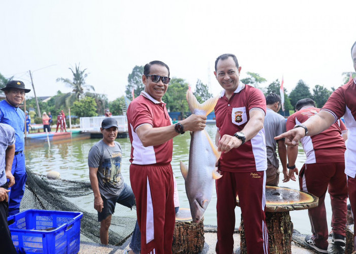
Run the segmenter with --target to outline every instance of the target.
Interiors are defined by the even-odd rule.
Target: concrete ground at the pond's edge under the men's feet
[[[216,233],[204,233],[205,237],[205,244],[204,249],[201,254],[213,254],[215,252],[215,244],[217,240]],[[234,249],[235,253],[239,253],[238,248],[240,247],[240,234],[236,233],[233,235],[234,239]],[[112,245],[101,245],[95,243],[87,243],[81,242],[80,243],[80,254],[121,254],[124,253],[124,248],[130,243],[130,239],[123,244],[123,246],[112,246]],[[310,253],[317,253],[312,250],[306,249],[301,247],[298,244],[292,242],[292,253],[295,254],[310,254]]]

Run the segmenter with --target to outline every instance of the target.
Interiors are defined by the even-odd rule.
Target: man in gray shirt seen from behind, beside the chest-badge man
[[[277,186],[279,183],[279,161],[276,148],[278,144],[278,155],[283,167],[283,182],[289,180],[287,171],[287,149],[284,145],[284,139],[274,140],[274,137],[286,131],[286,121],[283,116],[277,112],[281,109],[281,97],[276,93],[270,93],[266,96],[267,111],[264,117],[264,132],[267,148],[267,171],[266,185]]]

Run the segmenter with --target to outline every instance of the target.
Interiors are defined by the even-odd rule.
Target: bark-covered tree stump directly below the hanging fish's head
[[[203,219],[192,222],[190,209],[180,208],[175,216],[172,252],[175,254],[199,253],[204,247]]]

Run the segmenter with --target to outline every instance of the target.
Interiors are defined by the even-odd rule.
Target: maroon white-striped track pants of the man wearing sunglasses
[[[170,164],[130,166],[142,254],[172,253],[175,211]]]

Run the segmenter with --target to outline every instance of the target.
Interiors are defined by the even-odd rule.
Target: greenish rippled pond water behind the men
[[[216,134],[215,125],[207,125],[206,131],[209,133],[211,138],[214,140]],[[26,146],[26,165],[29,166],[35,173],[47,174],[50,170],[55,170],[60,172],[62,179],[68,180],[84,180],[89,181],[88,166],[87,166],[87,154],[91,147],[98,142],[99,139],[85,139],[79,141],[68,141],[60,144],[51,144],[50,148],[47,143],[43,146],[31,147]],[[123,162],[122,162],[122,174],[124,180],[127,184],[130,184],[129,167],[130,167],[130,151],[131,144],[130,139],[116,139],[120,142],[123,149]],[[185,191],[184,178],[180,170],[180,161],[183,161],[188,165],[189,158],[189,145],[190,145],[190,135],[186,133],[184,135],[177,136],[173,139],[173,158],[172,158],[172,168],[173,173],[177,182],[177,187],[179,191],[180,206],[189,208],[189,202]],[[303,149],[299,149],[298,159],[296,166],[301,169],[305,161],[305,154]],[[280,170],[282,167],[280,166]],[[299,189],[298,179],[296,182],[289,181],[286,183],[282,182],[283,174],[280,174],[279,186],[290,187],[294,189]],[[93,196],[94,202],[94,196]],[[325,207],[327,208],[328,225],[329,230],[331,224],[331,205],[330,196],[327,193],[325,197]],[[236,224],[235,227],[238,228],[240,225],[241,210],[239,207],[235,209],[236,214]],[[301,211],[291,211],[290,216],[294,224],[294,229],[300,231],[303,234],[310,234],[310,223],[307,210]],[[213,198],[204,213],[204,224],[205,225],[217,225],[216,221],[216,192],[214,189]]]

